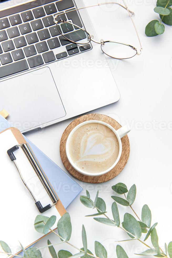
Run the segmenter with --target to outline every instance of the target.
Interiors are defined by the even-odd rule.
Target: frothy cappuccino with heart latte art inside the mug
[[[69,141],[69,155],[75,165],[98,173],[110,168],[117,160],[119,142],[115,133],[101,123],[80,126]]]

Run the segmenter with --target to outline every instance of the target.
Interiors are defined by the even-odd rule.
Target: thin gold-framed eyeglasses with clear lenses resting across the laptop
[[[137,50],[137,48],[135,48],[135,47],[133,47],[129,44],[122,43],[122,42],[103,41],[103,40],[101,40],[100,42],[95,41],[94,37],[91,36],[89,34],[89,32],[87,32],[85,29],[79,27],[78,25],[76,25],[72,22],[63,20],[60,17],[62,14],[54,16],[54,23],[57,24],[57,29],[58,29],[59,33],[67,41],[70,41],[72,43],[76,43],[76,44],[79,44],[79,45],[85,45],[85,44],[88,44],[90,41],[93,41],[93,42],[101,45],[101,49],[102,49],[103,53],[106,54],[107,56],[112,57],[112,58],[117,58],[117,59],[128,59],[128,58],[134,57],[135,55],[140,55],[143,48],[142,48],[142,45],[141,45],[141,41],[140,41],[140,38],[139,38],[139,34],[137,32],[136,26],[135,26],[134,21],[131,17],[131,16],[134,15],[134,12],[132,12],[128,9],[124,0],[123,0],[123,2],[124,2],[124,6],[122,4],[119,4],[119,3],[116,3],[116,2],[108,2],[108,3],[100,3],[100,4],[95,4],[95,5],[92,5],[92,6],[73,9],[73,10],[67,11],[65,13],[76,12],[76,11],[81,10],[81,9],[100,6],[100,5],[104,5],[104,4],[118,4],[119,6],[126,9],[129,13],[129,16],[131,18],[131,21],[133,23],[135,32],[136,32],[138,40],[139,40],[139,44],[140,44],[140,50],[139,51]],[[62,28],[63,32],[64,31],[65,32],[73,31],[73,26],[76,29],[76,31],[73,32],[73,33],[62,33],[62,30],[61,30],[60,26],[58,25],[59,23],[61,23],[61,26],[63,27]]]

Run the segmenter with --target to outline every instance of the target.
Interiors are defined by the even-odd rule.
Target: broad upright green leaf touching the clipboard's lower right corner
[[[70,222],[70,216],[69,213],[65,213],[58,221],[57,223],[57,229],[58,229],[58,233],[59,235],[64,239],[69,241],[70,236],[72,234],[72,225]],[[61,239],[61,238],[60,238]],[[63,241],[63,239],[61,239],[61,241]]]

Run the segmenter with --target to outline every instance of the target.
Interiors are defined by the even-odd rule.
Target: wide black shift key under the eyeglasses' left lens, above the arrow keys
[[[79,40],[81,40],[81,39],[86,38],[86,35],[85,35],[85,32],[84,32],[82,29],[79,29],[79,30],[77,30],[77,31],[74,31],[74,32],[70,32],[70,33],[68,33],[68,34],[65,34],[65,37],[67,37],[67,38],[69,38],[70,40],[76,42],[76,41],[79,41]],[[63,37],[63,36],[60,36],[60,37],[59,37],[62,46],[67,45],[67,44],[70,43],[70,41],[67,40],[65,37]]]

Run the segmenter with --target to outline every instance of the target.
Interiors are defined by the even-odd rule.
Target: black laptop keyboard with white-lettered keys
[[[54,25],[54,16],[60,14],[63,20],[83,27],[77,11],[65,13],[76,8],[73,0],[45,0],[44,3],[36,0],[0,11],[0,78],[91,49],[90,43],[80,47],[71,43]],[[39,7],[31,8],[35,6]],[[72,41],[86,38],[84,31],[72,24],[62,23],[60,29]]]

